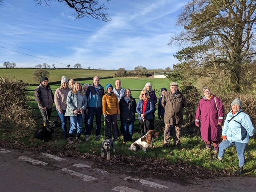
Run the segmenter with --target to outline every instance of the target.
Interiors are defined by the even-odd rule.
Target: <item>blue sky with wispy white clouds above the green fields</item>
[[[99,0],[100,1],[100,0]],[[100,1],[101,2],[101,1]],[[105,3],[105,1],[103,1]],[[164,69],[178,61],[178,47],[168,46],[177,14],[188,0],[111,0],[104,23],[93,18],[75,19],[74,12],[53,0],[51,8],[33,0],[4,0],[0,8],[0,67],[47,63],[66,68],[133,70]]]

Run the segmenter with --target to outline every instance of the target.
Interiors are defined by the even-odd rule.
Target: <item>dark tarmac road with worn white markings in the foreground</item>
[[[0,191],[256,191],[256,178],[164,181],[109,172],[85,159],[0,147]]]

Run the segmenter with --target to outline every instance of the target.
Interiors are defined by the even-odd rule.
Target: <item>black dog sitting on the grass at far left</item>
[[[58,121],[54,121],[49,123],[46,126],[39,128],[34,134],[34,138],[38,138],[40,140],[48,141],[52,139],[52,134],[54,133],[55,128],[60,127],[61,123]]]

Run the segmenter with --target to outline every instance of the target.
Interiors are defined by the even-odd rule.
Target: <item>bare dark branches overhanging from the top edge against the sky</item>
[[[40,6],[50,7],[52,0],[34,0]],[[101,19],[103,22],[108,22],[108,7],[105,4],[99,4],[98,0],[56,0],[60,4],[66,4],[75,11],[76,18],[92,17],[94,19]],[[106,0],[107,3],[110,0]]]

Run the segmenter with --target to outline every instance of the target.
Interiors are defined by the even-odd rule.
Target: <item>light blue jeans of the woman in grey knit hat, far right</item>
[[[245,149],[247,146],[247,143],[240,143],[240,142],[229,142],[227,140],[223,140],[220,144],[219,144],[219,154],[218,156],[220,158],[223,158],[225,150],[227,148],[230,148],[231,146],[236,146],[236,153],[238,156],[238,160],[239,160],[239,166],[243,167],[244,166],[244,161],[245,161]]]

